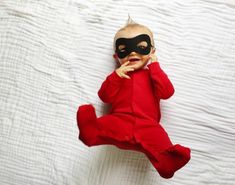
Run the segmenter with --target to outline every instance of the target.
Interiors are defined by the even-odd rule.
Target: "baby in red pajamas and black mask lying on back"
[[[111,110],[97,118],[92,105],[80,106],[79,139],[87,146],[112,144],[143,152],[162,177],[171,178],[190,160],[190,149],[173,145],[160,124],[160,100],[170,98],[174,87],[155,55],[153,33],[130,22],[116,33],[114,48],[120,67],[98,91]]]

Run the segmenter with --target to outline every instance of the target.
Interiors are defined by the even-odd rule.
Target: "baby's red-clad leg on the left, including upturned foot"
[[[134,120],[134,117],[123,114],[97,118],[92,105],[80,106],[77,112],[79,139],[87,146],[113,144],[120,148],[131,148]]]

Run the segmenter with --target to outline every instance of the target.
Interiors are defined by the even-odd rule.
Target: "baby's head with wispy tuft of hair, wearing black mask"
[[[155,52],[153,33],[148,27],[129,18],[127,25],[118,30],[114,37],[114,50],[114,57],[121,65],[130,61],[129,65],[140,69]]]

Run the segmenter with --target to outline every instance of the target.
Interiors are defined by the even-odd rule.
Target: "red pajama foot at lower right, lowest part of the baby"
[[[159,153],[157,159],[150,159],[151,163],[163,178],[171,178],[174,173],[190,160],[190,149],[181,145],[174,145]]]

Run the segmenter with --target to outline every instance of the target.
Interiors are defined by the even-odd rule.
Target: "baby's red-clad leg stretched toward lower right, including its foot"
[[[161,125],[153,125],[137,134],[153,166],[164,178],[171,178],[175,171],[190,159],[190,149],[173,145]]]

